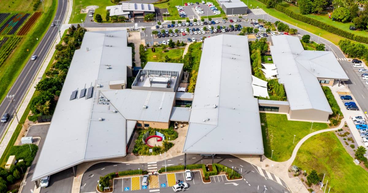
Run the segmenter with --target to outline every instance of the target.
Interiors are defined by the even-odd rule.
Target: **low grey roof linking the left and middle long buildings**
[[[128,120],[169,122],[175,93],[122,89],[101,92]],[[146,108],[143,108],[143,107]]]

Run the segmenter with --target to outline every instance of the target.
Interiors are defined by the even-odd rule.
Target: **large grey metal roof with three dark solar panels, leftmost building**
[[[32,181],[85,160],[125,156],[125,130],[121,129],[125,119],[112,113],[111,106],[108,110],[108,105],[98,104],[98,96],[101,90],[109,90],[109,81],[126,81],[131,53],[126,30],[85,33],[71,61]],[[91,86],[91,99],[69,100],[72,91]],[[96,121],[100,117],[103,121]]]

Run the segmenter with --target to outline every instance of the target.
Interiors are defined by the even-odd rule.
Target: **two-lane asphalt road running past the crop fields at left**
[[[63,21],[67,11],[67,5],[67,0],[58,0],[57,11],[54,20]],[[32,56],[37,55],[38,58],[36,60],[31,60],[31,58],[28,58],[28,62],[22,69],[22,72],[18,76],[17,80],[14,82],[13,86],[10,88],[9,92],[7,93],[7,95],[14,94],[13,104],[15,108],[18,108],[20,106],[21,101],[24,99],[29,86],[32,84],[33,79],[35,79],[35,76],[40,66],[42,65],[43,60],[46,57],[47,51],[49,50],[50,46],[53,45],[53,41],[58,33],[59,32],[57,27],[49,27],[49,29],[47,29],[45,36],[42,38],[36,50],[32,53]],[[0,124],[0,136],[4,135],[4,131],[6,131],[6,129],[10,125],[10,120],[15,118],[14,108],[7,98],[5,98],[0,104],[0,114],[2,115],[4,113],[9,113],[11,117],[7,123]],[[22,115],[18,115],[18,118],[21,118],[21,116]],[[4,150],[6,146],[0,148]]]

